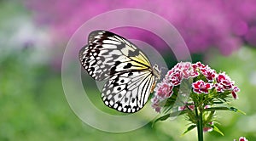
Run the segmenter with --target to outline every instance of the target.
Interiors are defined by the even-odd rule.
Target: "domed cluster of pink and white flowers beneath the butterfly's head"
[[[175,65],[171,71],[168,71],[165,78],[154,89],[154,98],[152,99],[153,108],[160,112],[162,103],[173,94],[173,88],[178,87],[183,79],[193,78],[192,92],[198,94],[207,94],[212,92],[224,93],[230,92],[234,99],[237,99],[239,88],[235,82],[231,81],[230,76],[225,73],[217,73],[208,65],[201,62],[191,64],[189,62],[180,62]],[[213,90],[216,91],[213,91]],[[180,107],[184,110],[186,107]],[[190,108],[190,107],[189,107]],[[193,109],[193,108],[192,108]]]

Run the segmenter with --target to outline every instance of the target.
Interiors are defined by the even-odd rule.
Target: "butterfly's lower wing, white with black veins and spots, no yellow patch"
[[[109,107],[126,113],[141,110],[148,101],[154,76],[150,71],[125,72],[112,76],[102,89]]]

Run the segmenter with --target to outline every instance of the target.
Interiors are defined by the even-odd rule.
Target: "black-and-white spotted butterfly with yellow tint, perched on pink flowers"
[[[160,78],[142,50],[110,31],[92,31],[88,44],[79,51],[84,69],[96,81],[107,80],[102,101],[124,113],[141,110]]]

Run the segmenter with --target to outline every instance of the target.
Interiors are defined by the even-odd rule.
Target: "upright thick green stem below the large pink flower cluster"
[[[200,113],[198,113],[200,112]],[[195,116],[197,117],[197,136],[198,136],[198,141],[203,141],[203,121],[202,121],[202,111],[198,111],[198,108],[195,108]]]

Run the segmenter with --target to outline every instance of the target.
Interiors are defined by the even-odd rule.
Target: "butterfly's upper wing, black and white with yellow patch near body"
[[[139,48],[109,31],[93,31],[79,52],[84,69],[97,81],[123,71],[148,70],[150,63]]]

